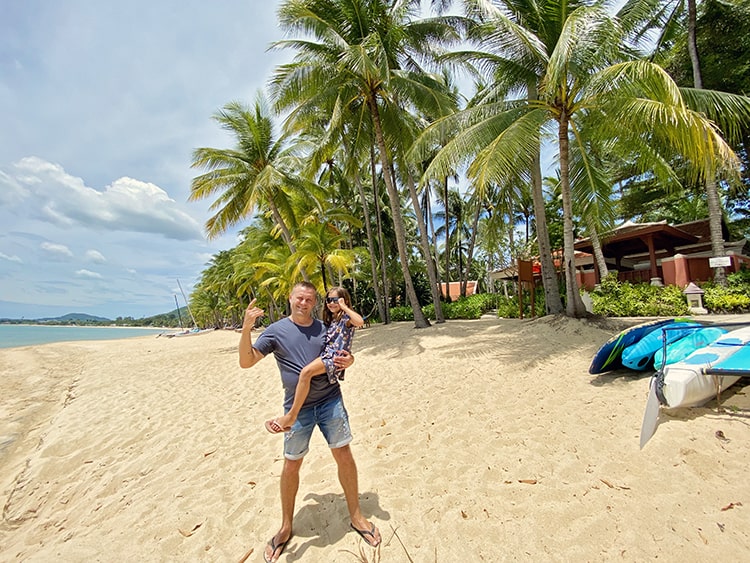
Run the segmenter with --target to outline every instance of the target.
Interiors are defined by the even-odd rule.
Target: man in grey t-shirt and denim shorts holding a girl
[[[325,346],[325,325],[313,318],[318,302],[315,286],[301,282],[292,288],[289,297],[291,314],[271,324],[256,339],[251,340],[251,331],[262,309],[251,301],[245,311],[240,337],[240,367],[254,366],[273,352],[281,372],[284,386],[284,408],[288,410],[294,400],[299,372],[317,358]],[[350,367],[354,358],[344,353],[335,360],[342,369]],[[351,527],[372,547],[380,544],[380,532],[362,515],[359,506],[359,483],[357,465],[349,443],[352,435],[349,419],[341,397],[338,383],[330,383],[324,372],[310,382],[310,392],[291,430],[284,435],[284,467],[281,470],[281,528],[266,545],[263,558],[269,563],[277,561],[292,536],[294,501],[299,488],[299,471],[307,454],[310,437],[315,427],[323,432],[338,466],[338,475],[344,489]]]

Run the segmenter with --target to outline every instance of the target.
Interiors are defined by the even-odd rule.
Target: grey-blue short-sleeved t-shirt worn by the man
[[[272,323],[255,340],[253,348],[264,356],[273,352],[281,372],[284,386],[284,408],[289,410],[294,402],[299,372],[307,364],[320,356],[326,342],[326,327],[315,319],[310,326],[300,326],[289,317]],[[341,395],[341,387],[328,381],[325,373],[310,380],[310,393],[304,407],[322,403]]]

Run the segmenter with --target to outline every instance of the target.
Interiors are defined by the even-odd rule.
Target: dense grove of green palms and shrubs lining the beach
[[[693,17],[658,0],[616,13],[593,0],[442,1],[429,15],[416,0],[285,0],[286,39],[272,47],[291,60],[252,104],[215,114],[234,146],[193,155],[208,236],[244,225],[192,292],[194,317],[236,326],[255,298],[274,320],[304,279],[346,286],[371,318],[424,327],[483,310],[445,302],[440,283],[495,293],[488,272],[530,257],[537,313],[583,316],[575,238],[592,238],[606,273],[598,233],[668,211],[709,218],[720,255],[722,215],[750,209],[750,64],[745,51],[731,82],[706,83],[718,92],[683,56],[711,53],[702,25],[722,22],[717,2]],[[748,5],[733,2],[736,29]]]

